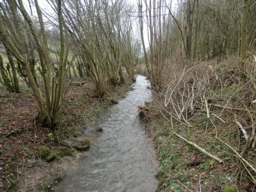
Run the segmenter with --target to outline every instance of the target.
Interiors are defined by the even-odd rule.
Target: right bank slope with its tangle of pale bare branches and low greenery
[[[243,81],[235,57],[186,62],[166,67],[163,91],[143,110],[161,164],[159,191],[253,191],[254,61],[246,61]]]

